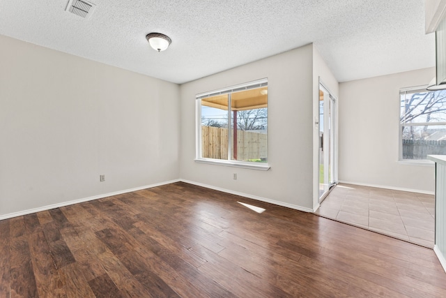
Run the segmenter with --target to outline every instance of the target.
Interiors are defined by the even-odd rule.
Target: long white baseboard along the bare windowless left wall
[[[36,213],[36,212],[45,211],[45,210],[49,210],[49,209],[65,207],[65,206],[69,206],[69,205],[72,205],[72,204],[77,204],[77,203],[88,202],[88,201],[92,201],[92,200],[98,200],[98,199],[102,199],[102,198],[112,197],[113,195],[122,195],[123,193],[131,193],[132,191],[141,191],[142,189],[153,188],[153,187],[156,187],[156,186],[162,186],[162,185],[172,184],[172,183],[176,183],[176,182],[180,182],[180,179],[164,181],[164,182],[160,182],[160,183],[156,183],[156,184],[150,184],[150,185],[146,185],[146,186],[139,186],[139,187],[136,187],[136,188],[129,188],[129,189],[125,189],[124,191],[114,191],[112,193],[104,193],[102,195],[93,195],[92,197],[88,197],[88,198],[82,198],[82,199],[72,200],[72,201],[68,201],[68,202],[61,202],[61,203],[57,203],[57,204],[51,204],[51,205],[47,205],[47,206],[43,206],[43,207],[37,207],[37,208],[33,208],[33,209],[27,209],[27,210],[24,210],[24,211],[13,212],[13,213],[10,213],[10,214],[3,214],[3,215],[0,215],[0,221],[2,219],[13,218],[13,217],[16,217],[16,216],[23,216],[23,215],[26,215],[26,214]]]

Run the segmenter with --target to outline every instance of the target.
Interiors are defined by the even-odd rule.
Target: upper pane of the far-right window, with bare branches
[[[401,124],[446,121],[446,90],[408,92],[400,100]]]

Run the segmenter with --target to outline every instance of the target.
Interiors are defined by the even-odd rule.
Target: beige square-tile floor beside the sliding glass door
[[[433,248],[433,195],[338,184],[316,214]]]

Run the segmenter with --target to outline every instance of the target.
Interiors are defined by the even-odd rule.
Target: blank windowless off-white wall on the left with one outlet
[[[178,179],[177,84],[0,44],[0,218]]]

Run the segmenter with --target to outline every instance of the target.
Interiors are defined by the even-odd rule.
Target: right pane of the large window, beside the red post
[[[231,109],[231,158],[268,162],[268,87],[231,94]]]

